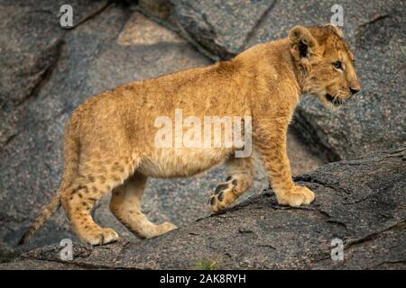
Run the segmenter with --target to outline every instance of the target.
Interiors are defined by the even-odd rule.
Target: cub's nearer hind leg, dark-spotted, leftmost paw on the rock
[[[103,163],[99,159],[86,161],[86,164],[80,165],[80,175],[61,193],[61,203],[72,228],[84,243],[104,245],[118,239],[114,229],[104,229],[97,225],[90,211],[97,200],[133,173],[136,161],[133,157],[124,159],[122,162],[106,159]]]

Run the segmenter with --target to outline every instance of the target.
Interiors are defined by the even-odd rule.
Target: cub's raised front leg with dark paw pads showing
[[[208,199],[208,208],[217,213],[230,206],[235,200],[245,193],[254,179],[254,158],[230,158],[228,178],[226,182],[218,184],[214,193]]]

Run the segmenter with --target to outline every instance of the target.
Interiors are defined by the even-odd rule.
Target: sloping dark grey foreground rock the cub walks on
[[[143,241],[121,238],[103,247],[34,249],[4,269],[405,269],[406,147],[328,164],[295,177],[317,195],[309,206],[277,204],[272,191],[223,214]],[[333,239],[344,260],[332,260]],[[55,265],[55,266],[52,266]]]

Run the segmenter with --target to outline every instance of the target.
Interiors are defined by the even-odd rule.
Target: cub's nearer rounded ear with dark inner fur
[[[318,45],[310,31],[299,25],[289,31],[288,38],[291,43],[291,55],[300,62],[309,59]]]

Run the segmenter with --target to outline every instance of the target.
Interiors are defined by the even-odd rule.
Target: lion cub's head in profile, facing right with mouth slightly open
[[[336,26],[295,26],[289,40],[303,93],[317,94],[323,103],[337,107],[361,89],[354,55]]]

